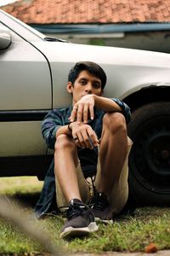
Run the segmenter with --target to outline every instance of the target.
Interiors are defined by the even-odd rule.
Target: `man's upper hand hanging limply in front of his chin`
[[[94,119],[94,95],[83,96],[82,99],[74,105],[70,120],[71,122],[77,120],[79,124],[81,122],[87,124],[89,118]]]

